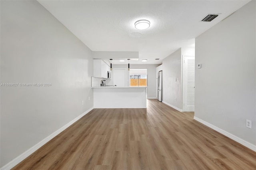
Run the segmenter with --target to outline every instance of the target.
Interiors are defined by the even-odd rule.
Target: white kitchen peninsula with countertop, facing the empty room
[[[94,108],[146,108],[147,87],[92,87]]]

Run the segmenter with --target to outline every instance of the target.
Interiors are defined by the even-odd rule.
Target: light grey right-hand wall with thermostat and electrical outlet
[[[256,145],[256,2],[196,38],[195,117]],[[252,129],[246,128],[246,119]]]

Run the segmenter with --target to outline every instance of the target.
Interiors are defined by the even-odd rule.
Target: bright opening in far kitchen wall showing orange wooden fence
[[[147,86],[147,69],[130,69],[130,86],[131,87],[146,87]]]

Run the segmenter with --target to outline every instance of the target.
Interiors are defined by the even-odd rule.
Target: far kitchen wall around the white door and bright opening
[[[130,69],[147,69],[148,71],[148,88],[147,88],[147,97],[148,98],[156,98],[156,67],[159,64],[130,64]],[[129,71],[128,64],[113,64],[114,68],[126,68],[127,78],[126,78],[126,86],[130,86],[129,82]],[[113,70],[112,70],[113,71]],[[113,79],[108,82],[108,85],[113,85]]]

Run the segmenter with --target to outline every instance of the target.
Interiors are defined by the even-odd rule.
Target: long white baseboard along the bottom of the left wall
[[[14,166],[16,166],[17,164],[19,164],[22,160],[24,160],[25,158],[27,158],[28,156],[30,156],[32,153],[34,153],[36,150],[38,150],[40,147],[42,147],[44,144],[46,144],[47,142],[49,142],[52,138],[54,138],[55,136],[57,136],[58,134],[60,134],[60,132],[62,132],[63,130],[65,130],[66,128],[68,128],[70,125],[72,125],[73,123],[75,123],[76,121],[78,121],[79,119],[81,119],[84,115],[86,115],[87,113],[89,113],[92,109],[94,109],[94,107],[88,109],[87,111],[85,111],[84,113],[82,113],[81,115],[79,115],[78,117],[76,117],[75,119],[73,119],[72,121],[70,121],[68,124],[64,125],[63,127],[61,127],[60,129],[56,130],[55,132],[53,132],[52,134],[50,134],[49,136],[47,136],[46,138],[44,138],[43,140],[41,140],[40,142],[38,142],[36,145],[32,146],[30,149],[28,149],[26,152],[20,154],[19,156],[17,156],[16,158],[14,158],[12,161],[10,161],[8,164],[4,165],[1,170],[10,170],[12,169]]]

